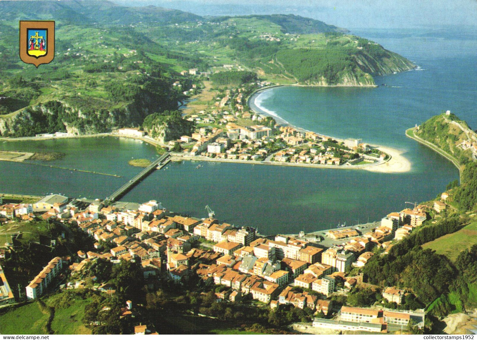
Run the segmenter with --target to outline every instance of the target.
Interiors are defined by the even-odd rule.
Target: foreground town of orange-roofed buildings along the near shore
[[[35,213],[38,218],[41,214],[43,219],[56,219],[94,240],[93,249],[80,250],[73,259],[68,269],[75,279],[65,288],[85,287],[83,273],[94,261],[135,261],[141,263],[145,282],[151,288],[160,279],[177,283],[196,280],[203,288],[226,287],[216,294],[218,299],[239,302],[249,296],[270,304],[270,308],[307,307],[322,311],[325,316],[336,312],[330,299],[333,294],[346,294],[363,285],[363,277],[350,276],[350,270],[366,265],[374,256],[375,247],[388,252],[394,240],[407,237],[422,225],[432,209],[421,205],[393,212],[378,227],[366,231],[354,227],[329,230],[324,237],[341,243],[324,247],[321,237],[305,237],[304,233],[297,237],[263,237],[253,227],[221,223],[213,212],[208,218],[171,214],[155,200],[107,205],[49,195],[34,204],[0,206],[7,208],[13,209],[14,218]],[[44,294],[64,263],[62,258],[53,258],[26,287],[27,298],[36,299]],[[10,288],[6,279],[3,282],[0,291],[4,299],[9,299]],[[114,289],[106,282],[95,282],[95,287],[105,292]],[[389,302],[402,304],[407,294],[406,289],[385,287],[382,295]],[[348,309],[343,307],[341,319],[315,319],[314,324],[340,330],[384,331],[387,324],[409,322],[409,316],[393,314],[391,319],[386,311],[373,311],[373,321],[348,318]]]

